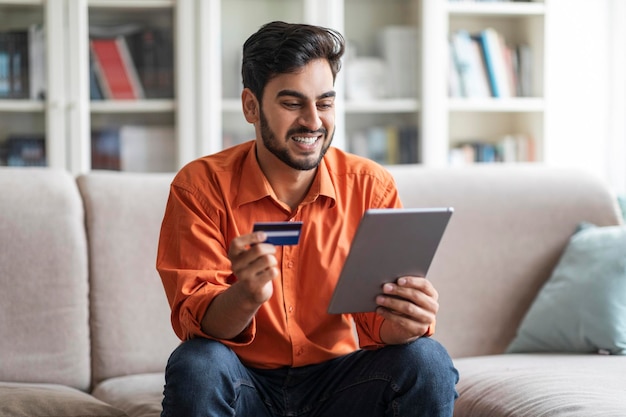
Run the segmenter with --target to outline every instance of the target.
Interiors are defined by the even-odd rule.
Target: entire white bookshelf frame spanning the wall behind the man
[[[164,123],[176,134],[176,166],[253,137],[242,114],[240,51],[270,20],[322,24],[341,31],[349,54],[337,80],[334,144],[352,150],[367,129],[417,129],[418,162],[447,165],[450,148],[468,137],[525,131],[541,157],[545,141],[546,1],[470,3],[446,0],[0,0],[11,21],[47,26],[48,94],[44,101],[0,100],[0,142],[8,130],[35,126],[47,137],[48,163],[79,173],[90,166],[90,131]],[[245,10],[245,13],[242,13]],[[10,13],[5,13],[10,11]],[[175,96],[134,101],[89,99],[88,30],[92,24],[136,20],[169,27],[174,37]],[[0,28],[9,19],[0,18]],[[495,27],[507,39],[531,44],[532,97],[449,98],[447,39],[453,30]],[[415,89],[403,96],[350,97],[351,57],[381,58],[377,39],[388,27],[417,34],[406,54],[417,67]],[[51,81],[51,82],[50,82]],[[3,123],[4,122],[4,123]],[[4,130],[3,130],[4,129]],[[360,136],[362,139],[362,136]]]

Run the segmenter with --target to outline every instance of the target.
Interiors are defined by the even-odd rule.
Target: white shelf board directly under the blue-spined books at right
[[[543,112],[544,107],[544,100],[535,97],[448,99],[448,110],[454,112],[533,113]]]

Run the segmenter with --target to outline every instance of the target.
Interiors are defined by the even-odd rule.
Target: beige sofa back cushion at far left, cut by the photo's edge
[[[90,385],[83,204],[65,171],[0,168],[0,381]]]

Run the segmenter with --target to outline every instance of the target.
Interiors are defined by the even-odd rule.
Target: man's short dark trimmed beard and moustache
[[[328,140],[328,143],[324,143],[322,145],[322,149],[317,157],[296,159],[289,153],[289,149],[287,147],[280,146],[280,143],[278,139],[276,138],[276,135],[274,134],[274,132],[269,126],[269,123],[267,121],[267,118],[265,117],[265,113],[263,112],[263,109],[261,109],[260,111],[260,122],[261,122],[261,139],[263,139],[263,145],[265,145],[265,147],[274,156],[276,156],[282,162],[287,164],[289,167],[300,170],[300,171],[309,171],[311,169],[317,168],[317,166],[322,161],[322,158],[324,158],[324,155],[326,155],[326,151],[328,151],[328,148],[330,147],[330,144],[333,141],[333,136],[335,134],[333,130]],[[297,134],[309,134],[309,133],[321,133],[322,134],[321,140],[325,141],[328,139],[328,131],[323,127],[316,131],[311,131],[303,127],[300,127],[300,128],[290,129],[286,134],[285,141],[289,141],[290,140],[289,138],[291,136],[294,136]]]

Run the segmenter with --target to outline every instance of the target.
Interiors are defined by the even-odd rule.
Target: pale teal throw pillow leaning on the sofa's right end
[[[507,352],[626,354],[626,226],[580,225]]]

